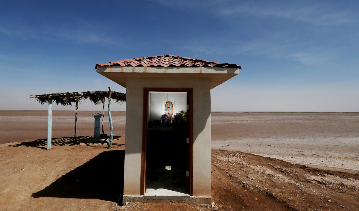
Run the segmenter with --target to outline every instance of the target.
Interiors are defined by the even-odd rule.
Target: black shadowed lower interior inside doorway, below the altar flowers
[[[148,128],[146,188],[188,193],[186,134],[186,128]]]

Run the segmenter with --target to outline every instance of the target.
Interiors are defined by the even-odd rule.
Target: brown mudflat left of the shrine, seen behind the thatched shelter
[[[77,136],[91,136],[94,132],[92,114],[102,111],[78,111]],[[0,144],[30,139],[47,138],[48,111],[0,111]],[[116,136],[125,134],[125,112],[111,111]],[[105,113],[104,131],[109,134],[108,114]],[[74,136],[75,111],[52,111],[52,138]]]

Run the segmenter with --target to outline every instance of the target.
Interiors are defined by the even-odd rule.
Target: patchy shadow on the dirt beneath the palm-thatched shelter
[[[117,138],[121,138],[122,136],[113,136],[113,140]],[[93,136],[78,136],[78,137],[61,137],[61,138],[52,138],[51,139],[51,145],[52,146],[73,146],[78,145],[80,142],[87,142],[92,141]],[[112,143],[112,145],[121,146],[123,144],[118,143]],[[27,142],[21,142],[18,144],[13,145],[13,147],[20,147],[20,146],[26,146],[26,147],[36,147],[41,149],[47,149],[47,139],[46,138],[40,138],[36,139],[34,141],[27,141]],[[107,144],[100,145],[100,146],[93,146],[88,145],[92,147],[107,147]]]

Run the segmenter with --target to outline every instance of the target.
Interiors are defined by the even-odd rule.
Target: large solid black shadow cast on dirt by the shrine
[[[125,150],[99,153],[32,197],[94,198],[122,205]]]

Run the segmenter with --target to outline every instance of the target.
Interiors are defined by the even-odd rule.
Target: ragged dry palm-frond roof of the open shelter
[[[108,97],[108,91],[86,91],[86,92],[64,92],[64,93],[51,93],[43,95],[31,95],[31,98],[36,98],[36,101],[44,104],[51,98],[57,105],[69,105],[73,102],[89,99],[95,105],[102,104]],[[126,102],[126,93],[111,91],[111,98],[118,104]]]

